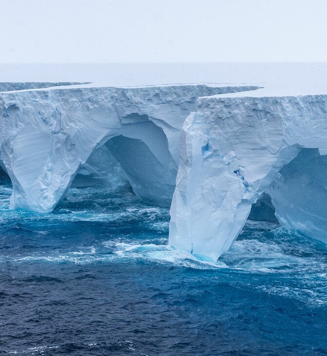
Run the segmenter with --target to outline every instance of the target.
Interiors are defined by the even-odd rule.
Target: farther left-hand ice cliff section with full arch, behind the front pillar
[[[139,198],[168,205],[180,131],[196,99],[254,88],[175,85],[1,93],[0,160],[13,183],[10,206],[47,213],[76,175],[93,172],[92,178],[103,178],[105,170],[91,159],[103,145]]]

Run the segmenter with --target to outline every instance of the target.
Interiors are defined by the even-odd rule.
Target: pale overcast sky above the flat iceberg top
[[[327,0],[0,0],[0,63],[327,61]]]

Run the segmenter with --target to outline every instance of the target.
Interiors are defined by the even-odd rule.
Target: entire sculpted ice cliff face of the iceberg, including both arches
[[[171,204],[172,246],[217,260],[266,193],[283,226],[327,242],[326,98],[200,84],[1,92],[10,206],[49,213],[71,184],[127,181]]]

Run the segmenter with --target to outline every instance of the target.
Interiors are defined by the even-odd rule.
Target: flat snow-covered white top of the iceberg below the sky
[[[224,94],[223,97],[327,94],[327,63],[321,62],[1,64],[0,69],[2,82],[38,81],[74,84],[91,82],[61,88],[144,87],[197,83],[210,86],[262,87],[253,92]]]

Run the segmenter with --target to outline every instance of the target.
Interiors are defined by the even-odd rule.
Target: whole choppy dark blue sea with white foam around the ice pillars
[[[0,187],[0,353],[327,355],[327,248],[266,222],[218,265],[167,247],[168,209],[70,189],[52,214]]]

